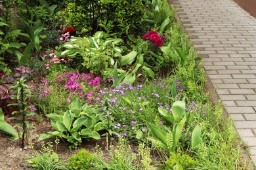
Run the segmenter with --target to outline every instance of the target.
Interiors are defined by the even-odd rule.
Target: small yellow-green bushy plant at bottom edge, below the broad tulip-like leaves
[[[198,160],[194,160],[188,154],[183,154],[181,150],[179,150],[177,154],[170,152],[168,160],[165,161],[165,169],[193,169],[198,163]]]

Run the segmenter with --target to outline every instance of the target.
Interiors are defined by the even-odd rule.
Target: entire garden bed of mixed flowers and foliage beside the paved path
[[[28,157],[18,168],[249,167],[166,1],[16,0],[0,9],[0,103],[9,104],[0,135],[22,141]]]

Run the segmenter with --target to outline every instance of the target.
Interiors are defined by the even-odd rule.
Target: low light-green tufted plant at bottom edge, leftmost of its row
[[[59,141],[55,143],[58,145]],[[56,145],[56,147],[57,147]],[[53,143],[41,144],[42,151],[35,151],[35,156],[28,159],[28,163],[37,170],[54,170],[54,169],[67,169],[62,161],[60,161],[58,154],[53,151]]]

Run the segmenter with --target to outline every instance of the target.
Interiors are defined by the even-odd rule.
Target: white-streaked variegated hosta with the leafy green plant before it
[[[82,58],[81,65],[87,71],[108,78],[112,76],[110,68],[114,67],[114,60],[120,58],[126,50],[122,44],[122,39],[110,38],[106,33],[98,31],[93,37],[72,38],[63,44],[62,47],[66,50],[61,55],[78,61]]]

